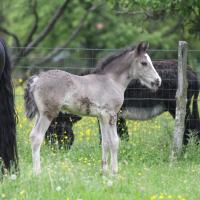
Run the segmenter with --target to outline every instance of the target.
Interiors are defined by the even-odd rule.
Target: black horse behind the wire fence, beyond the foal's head
[[[142,86],[139,81],[133,80],[125,91],[125,101],[120,114],[118,115],[118,134],[121,138],[128,139],[128,127],[126,119],[147,120],[163,112],[169,112],[173,118],[176,113],[176,90],[178,80],[178,63],[177,61],[154,61],[153,65],[162,79],[162,84],[156,92],[152,92],[147,87]],[[89,71],[84,74],[90,73]],[[199,81],[197,74],[188,67],[188,91],[187,91],[187,108],[185,118],[185,132],[183,142],[188,143],[190,131],[200,134],[200,120],[198,114],[197,99],[199,94]],[[193,98],[193,99],[192,99]],[[191,105],[192,102],[192,112]],[[62,126],[60,115],[55,118],[56,126]],[[69,124],[67,125],[69,126]],[[71,124],[72,127],[72,124]],[[47,135],[51,132],[47,131]],[[63,134],[63,133],[62,133]],[[73,132],[68,137],[74,138]],[[59,132],[59,137],[61,134]],[[67,141],[66,144],[72,144],[73,141]]]

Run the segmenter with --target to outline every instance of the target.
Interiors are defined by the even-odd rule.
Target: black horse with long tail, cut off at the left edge
[[[0,157],[1,171],[17,169],[16,114],[11,63],[6,44],[0,38]]]

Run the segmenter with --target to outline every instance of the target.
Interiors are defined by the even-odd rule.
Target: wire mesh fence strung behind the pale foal
[[[53,49],[52,48],[34,48],[34,52],[27,57],[22,57],[20,64],[15,66],[14,79],[20,80],[21,77],[31,76],[32,74],[46,71],[49,69],[61,69],[70,73],[80,75],[81,73],[93,69],[97,62],[110,54],[120,52],[121,49],[87,49],[87,48],[66,48],[61,49],[61,52],[43,63],[43,59]],[[16,53],[18,48],[11,48],[11,52]],[[162,132],[172,132],[173,118],[176,110],[176,90],[177,90],[177,49],[161,50],[150,49],[149,55],[152,58],[154,66],[162,78],[162,87],[153,92],[141,85],[138,81],[132,82],[125,92],[125,101],[123,108],[132,112],[129,113],[129,119],[146,120],[160,115],[167,111],[168,114],[162,115],[160,118],[148,122],[129,121],[127,123],[129,130],[152,132],[152,127],[160,127]],[[188,122],[185,126],[190,130],[190,125],[193,120],[192,116],[192,99],[194,92],[198,91],[195,87],[198,77],[200,77],[200,50],[188,51],[188,63],[192,67],[188,69],[189,88],[188,102],[190,110],[188,110]],[[167,70],[168,69],[168,70]],[[16,93],[17,96],[22,96],[22,93]],[[143,116],[142,116],[143,115]],[[172,116],[172,117],[170,117]],[[127,116],[126,116],[127,117]],[[138,125],[143,124],[143,125]],[[139,127],[137,129],[137,127]],[[137,130],[136,130],[137,129]],[[170,130],[170,131],[169,131]],[[155,131],[158,131],[155,129]],[[169,134],[168,134],[169,135]]]

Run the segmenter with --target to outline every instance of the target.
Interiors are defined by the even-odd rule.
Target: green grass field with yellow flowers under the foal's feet
[[[17,89],[17,94],[22,93]],[[20,175],[4,177],[0,199],[9,200],[198,200],[200,148],[194,139],[183,156],[169,162],[173,120],[164,114],[150,121],[129,121],[130,141],[121,142],[119,174],[101,174],[101,148],[95,118],[74,127],[75,143],[68,152],[43,144],[42,173],[32,174],[29,133],[23,99],[16,97]]]

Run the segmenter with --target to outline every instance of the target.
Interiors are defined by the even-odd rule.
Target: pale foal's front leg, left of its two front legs
[[[101,146],[102,146],[102,171],[108,171],[108,151],[109,151],[109,138],[108,138],[108,125],[105,120],[99,118],[101,129]]]

